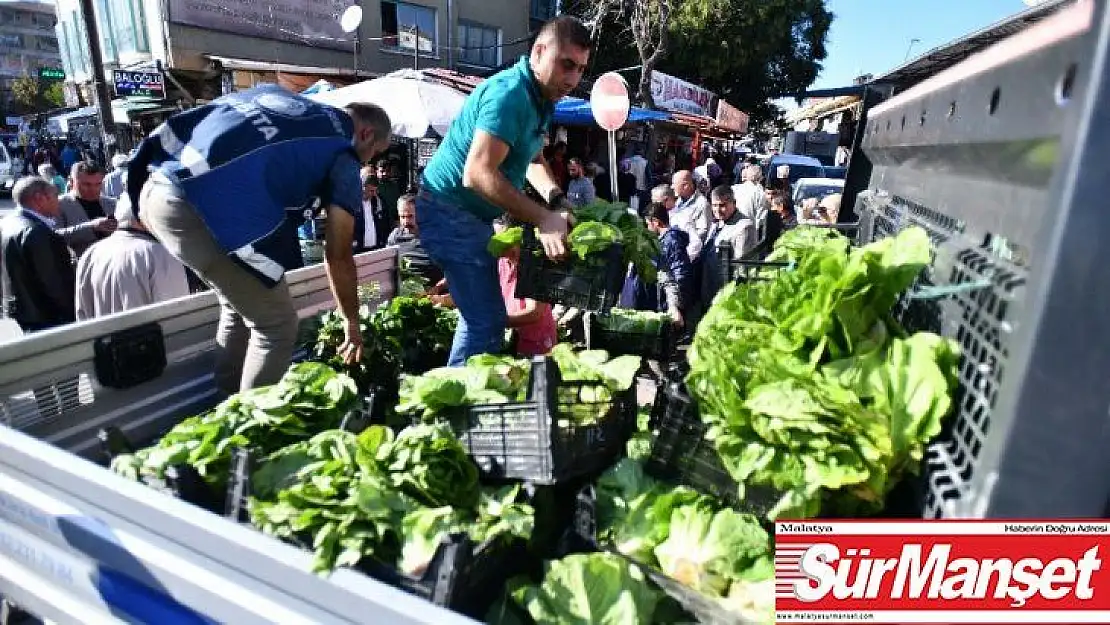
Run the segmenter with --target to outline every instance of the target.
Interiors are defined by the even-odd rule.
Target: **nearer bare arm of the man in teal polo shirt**
[[[553,259],[562,258],[566,254],[568,215],[547,210],[513,187],[498,169],[506,157],[507,143],[484,130],[476,131],[463,168],[463,187],[517,220],[538,228],[539,240],[547,255]],[[543,192],[539,189],[537,191]]]

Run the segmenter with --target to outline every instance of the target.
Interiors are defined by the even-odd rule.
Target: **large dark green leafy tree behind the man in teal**
[[[650,105],[650,71],[665,71],[716,92],[754,125],[777,117],[769,100],[813,84],[833,23],[825,0],[564,0],[563,7],[594,30],[591,73],[642,65],[638,91]]]

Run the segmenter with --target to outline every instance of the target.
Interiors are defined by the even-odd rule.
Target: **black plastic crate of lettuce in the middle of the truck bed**
[[[487,477],[555,484],[597,473],[616,462],[636,426],[634,391],[612,401],[586,397],[602,382],[563,382],[554,361],[532,361],[527,400],[446,411],[463,446]],[[572,411],[595,406],[597,421],[577,425]]]

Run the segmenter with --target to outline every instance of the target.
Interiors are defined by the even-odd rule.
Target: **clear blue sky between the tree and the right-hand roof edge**
[[[836,16],[814,89],[846,87],[1025,10],[1022,0],[829,0]]]

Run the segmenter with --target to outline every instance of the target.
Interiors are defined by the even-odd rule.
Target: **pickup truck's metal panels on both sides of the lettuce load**
[[[898,316],[963,352],[907,495],[928,518],[1099,517],[1110,501],[1108,49],[1107,2],[1079,1],[860,125],[859,238],[927,230],[935,261]],[[357,263],[393,293],[395,250]],[[333,305],[322,266],[289,280],[303,317]],[[148,441],[212,405],[216,317],[198,294],[0,347],[0,594],[58,623],[468,622],[353,572],[314,576],[309,554],[95,462],[102,427]],[[159,345],[161,373],[100,382],[105,353]],[[34,391],[52,387],[62,410],[41,415]]]

